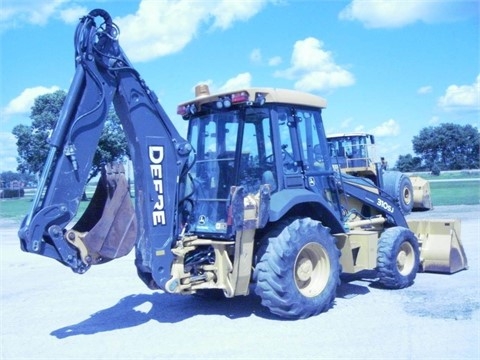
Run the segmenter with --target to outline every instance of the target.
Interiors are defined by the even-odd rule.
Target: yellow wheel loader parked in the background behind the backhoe
[[[372,181],[392,196],[405,215],[412,210],[433,209],[430,183],[420,176],[388,170],[384,158],[378,159],[375,137],[363,132],[327,135],[334,168],[345,174]]]

